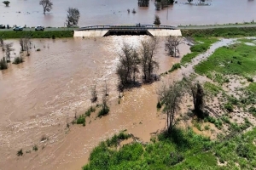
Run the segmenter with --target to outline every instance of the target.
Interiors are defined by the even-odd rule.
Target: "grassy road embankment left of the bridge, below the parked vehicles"
[[[0,31],[3,39],[20,38],[30,35],[32,38],[73,37],[73,31]]]

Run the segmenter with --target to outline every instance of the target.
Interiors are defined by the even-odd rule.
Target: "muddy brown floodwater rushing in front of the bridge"
[[[148,141],[149,133],[164,127],[155,108],[155,85],[133,89],[120,105],[117,101],[120,44],[138,46],[145,38],[33,39],[31,56],[24,63],[9,64],[8,70],[0,71],[0,169],[79,169],[96,144],[119,130],[128,129]],[[6,42],[14,42],[13,60],[20,54],[19,42]],[[164,43],[162,38],[156,56],[159,73],[180,60],[167,56]],[[189,52],[185,42],[180,48],[181,55]],[[0,58],[3,55],[0,52]],[[68,130],[66,122],[90,107],[92,84],[97,84],[101,95],[105,80],[110,88],[109,116],[95,119],[94,115],[85,127],[74,125]],[[43,136],[48,140],[41,141]],[[34,144],[37,152],[32,150]],[[24,156],[18,157],[21,148]]]

